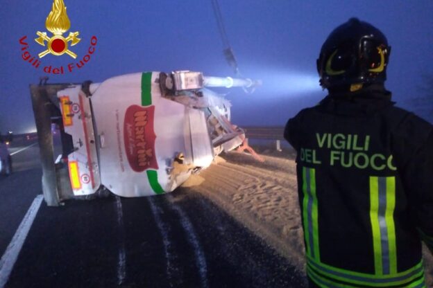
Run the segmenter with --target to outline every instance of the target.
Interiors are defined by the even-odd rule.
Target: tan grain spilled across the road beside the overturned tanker
[[[289,153],[262,156],[264,163],[236,152],[217,157],[185,186],[214,201],[305,272],[296,163]],[[423,254],[427,282],[433,287],[433,257],[426,249]]]

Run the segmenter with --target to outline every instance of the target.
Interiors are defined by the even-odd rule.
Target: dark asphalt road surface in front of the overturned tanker
[[[285,258],[187,188],[39,206],[37,145],[12,161],[0,179],[0,288],[305,287]]]

